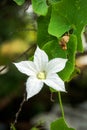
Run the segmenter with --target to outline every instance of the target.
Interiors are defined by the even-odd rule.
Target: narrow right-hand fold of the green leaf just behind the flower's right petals
[[[75,54],[77,49],[77,38],[75,35],[71,35],[69,42],[67,43],[67,58],[65,68],[59,72],[59,76],[64,80],[68,81],[75,68]]]

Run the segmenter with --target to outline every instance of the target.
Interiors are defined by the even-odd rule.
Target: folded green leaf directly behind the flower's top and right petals
[[[59,76],[64,81],[68,81],[72,72],[74,71],[76,48],[77,38],[75,35],[70,36],[70,40],[67,43],[67,50],[62,50],[57,39],[47,42],[43,47],[50,59],[55,57],[68,59],[65,68],[59,72]]]

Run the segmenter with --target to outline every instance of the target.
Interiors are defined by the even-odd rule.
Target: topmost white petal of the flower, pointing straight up
[[[45,51],[41,50],[37,47],[34,54],[34,63],[38,69],[38,71],[43,71],[46,64],[48,63],[48,56]]]

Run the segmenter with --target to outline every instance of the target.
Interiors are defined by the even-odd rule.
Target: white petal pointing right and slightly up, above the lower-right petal
[[[67,59],[55,58],[50,60],[47,64],[46,71],[47,73],[56,73],[61,71],[67,62]]]

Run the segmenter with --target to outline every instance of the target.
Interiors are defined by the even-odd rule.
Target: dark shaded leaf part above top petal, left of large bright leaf
[[[49,8],[46,16],[40,16],[37,20],[37,43],[40,47],[43,47],[45,43],[53,40],[53,36],[48,34],[48,24],[50,22],[51,8]]]

